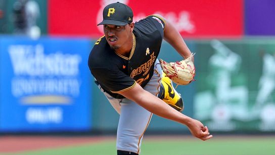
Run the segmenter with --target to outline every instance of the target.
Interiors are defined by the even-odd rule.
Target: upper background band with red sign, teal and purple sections
[[[122,2],[130,6],[134,21],[161,14],[172,22],[181,35],[190,38],[242,37],[243,35],[275,35],[275,2],[272,0],[189,1],[67,1],[32,0],[38,5],[34,22],[42,34],[102,36],[104,6]],[[15,33],[15,9],[18,0],[0,1],[0,33]],[[150,9],[148,9],[150,6]],[[34,10],[33,10],[34,11]],[[23,22],[23,21],[22,21]]]

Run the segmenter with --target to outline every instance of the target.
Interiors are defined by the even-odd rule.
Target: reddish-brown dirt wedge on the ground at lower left
[[[1,136],[0,153],[95,143],[113,137]]]

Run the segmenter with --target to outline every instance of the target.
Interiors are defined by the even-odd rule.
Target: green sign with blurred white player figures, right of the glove
[[[194,117],[210,131],[275,131],[274,40],[201,43]]]

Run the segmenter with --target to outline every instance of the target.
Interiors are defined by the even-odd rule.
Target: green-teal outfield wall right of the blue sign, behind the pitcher
[[[185,102],[183,113],[216,132],[275,131],[275,40],[186,41],[195,55],[195,82],[178,86]],[[180,60],[166,42],[159,58]],[[115,130],[119,115],[93,88],[95,128]],[[153,117],[148,131],[183,131],[175,122]]]

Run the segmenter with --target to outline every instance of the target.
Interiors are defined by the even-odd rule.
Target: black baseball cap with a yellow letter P
[[[112,3],[103,10],[103,21],[98,25],[109,24],[123,26],[133,21],[133,11],[122,3]]]

